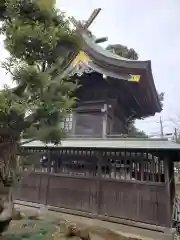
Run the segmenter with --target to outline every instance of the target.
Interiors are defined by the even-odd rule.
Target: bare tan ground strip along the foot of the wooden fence
[[[23,203],[22,203],[23,204]],[[31,213],[38,212],[39,208],[35,206],[25,206],[18,203],[16,205],[21,212]],[[38,207],[38,206],[37,206]],[[93,240],[172,240],[172,235],[168,233],[157,233],[151,230],[145,230],[135,227],[130,227],[122,224],[111,223],[106,221],[101,221],[98,219],[91,219],[86,217],[80,217],[72,214],[60,213],[57,211],[48,211],[46,208],[41,209],[41,215],[45,216],[48,219],[66,219],[71,223],[76,223],[80,226],[86,226],[91,232],[93,232]],[[109,229],[109,230],[108,230]],[[102,236],[103,235],[103,236]],[[177,237],[177,236],[176,236]],[[180,240],[178,237],[177,240]]]

